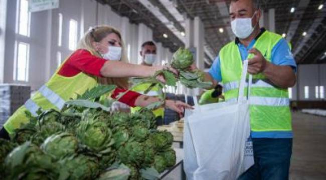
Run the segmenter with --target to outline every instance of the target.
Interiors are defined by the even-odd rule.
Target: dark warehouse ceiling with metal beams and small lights
[[[180,36],[185,19],[199,16],[205,27],[205,62],[208,67],[220,48],[234,39],[230,28],[229,0],[97,0],[108,4],[132,23],[153,29],[153,39],[175,51],[184,46]],[[320,4],[323,4],[321,9]],[[275,29],[286,33],[297,63],[326,63],[325,0],[260,0],[267,12],[275,8]],[[290,12],[294,7],[294,12]],[[154,10],[153,10],[154,9]],[[155,12],[157,11],[157,13]],[[164,16],[167,21],[162,21]],[[222,30],[223,29],[223,30]],[[306,32],[306,35],[302,35]],[[163,34],[166,33],[168,38]]]

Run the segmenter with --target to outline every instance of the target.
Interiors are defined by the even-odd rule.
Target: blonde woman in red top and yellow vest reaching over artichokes
[[[128,88],[128,77],[153,75],[164,66],[143,66],[127,63],[120,32],[113,27],[100,25],[88,31],[75,50],[56,70],[50,80],[20,107],[5,123],[0,137],[9,137],[21,123],[29,118],[25,111],[36,115],[39,108],[60,109],[65,101],[75,98],[98,83],[116,84],[111,97]],[[171,69],[174,70],[174,69]],[[119,101],[130,106],[146,106],[158,101],[157,97],[126,92]],[[182,115],[184,108],[191,108],[181,101],[166,100],[165,106]]]

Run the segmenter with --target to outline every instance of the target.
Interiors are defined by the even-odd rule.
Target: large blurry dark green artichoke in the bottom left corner
[[[7,179],[56,179],[52,158],[30,141],[16,147],[5,160]]]

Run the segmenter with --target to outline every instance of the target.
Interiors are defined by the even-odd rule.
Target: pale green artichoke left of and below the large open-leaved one
[[[52,155],[54,159],[61,159],[76,153],[78,141],[73,134],[61,132],[53,134],[45,139],[41,148]]]

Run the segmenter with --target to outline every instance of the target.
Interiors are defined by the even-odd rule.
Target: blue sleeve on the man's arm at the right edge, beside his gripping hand
[[[271,61],[275,65],[289,65],[296,72],[294,56],[284,38],[281,38],[273,47]]]

